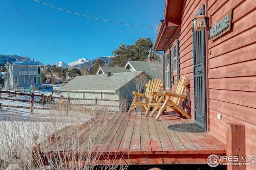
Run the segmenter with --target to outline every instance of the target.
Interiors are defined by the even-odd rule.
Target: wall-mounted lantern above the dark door
[[[204,11],[204,10],[200,10],[200,11]],[[209,27],[209,17],[198,15],[193,19],[193,25],[194,25],[194,31],[200,31],[200,30],[206,29]]]

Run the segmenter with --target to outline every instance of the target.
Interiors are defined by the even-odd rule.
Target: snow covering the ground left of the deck
[[[54,86],[58,88],[60,86]],[[45,90],[44,90],[45,91]],[[40,91],[40,94],[52,94],[52,91]],[[35,92],[36,94],[36,92]],[[12,97],[20,100],[30,100],[30,96]],[[40,97],[34,96],[34,100],[40,100]],[[0,100],[0,103],[10,106],[30,107],[30,103]],[[34,103],[34,107],[45,107]],[[81,125],[91,118],[91,115],[81,111],[63,110],[42,110],[3,107],[0,110],[0,158],[8,158],[13,152],[19,155],[30,155],[35,142],[40,143],[49,137],[54,131],[70,125]],[[35,141],[33,138],[37,137]]]

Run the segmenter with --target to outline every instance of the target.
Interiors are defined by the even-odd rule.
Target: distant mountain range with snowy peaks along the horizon
[[[97,59],[86,59],[86,58],[82,58],[82,59],[78,59],[77,61],[71,62],[71,63],[64,63],[62,61],[58,62],[58,63],[53,63],[52,65],[56,65],[57,67],[62,67],[62,68],[77,68],[77,69],[82,69],[84,68],[85,70],[91,71],[92,68],[94,67],[94,64],[96,63],[96,61],[100,58],[104,61],[105,66],[108,66],[108,64],[110,63],[110,57],[112,56],[104,56],[104,57],[98,57]],[[1,55],[0,54],[0,64],[6,64],[7,61],[31,61],[30,58],[28,57],[20,57],[18,55]]]

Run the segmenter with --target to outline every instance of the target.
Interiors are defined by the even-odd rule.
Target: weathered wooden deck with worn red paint
[[[111,160],[109,164],[207,164],[210,154],[226,155],[226,145],[208,132],[184,133],[167,128],[178,123],[193,120],[175,113],[162,115],[158,121],[143,112],[130,116],[103,114],[81,126],[58,131],[40,143],[37,151],[43,164],[53,159],[70,164],[79,156],[84,164],[90,164],[88,157],[97,164],[106,164],[106,157]]]

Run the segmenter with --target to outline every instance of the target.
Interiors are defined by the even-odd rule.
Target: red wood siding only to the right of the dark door
[[[256,153],[256,4],[208,0],[207,10],[212,24],[233,10],[232,30],[208,41],[209,131],[225,143],[226,123],[245,125],[246,156],[250,156]]]

